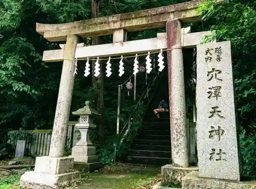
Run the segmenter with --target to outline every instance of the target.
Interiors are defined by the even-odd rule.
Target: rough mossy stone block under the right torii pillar
[[[197,167],[174,167],[171,164],[166,164],[161,168],[161,185],[162,186],[170,186],[170,187],[178,187],[181,186],[181,178],[187,175],[192,171],[198,171]]]

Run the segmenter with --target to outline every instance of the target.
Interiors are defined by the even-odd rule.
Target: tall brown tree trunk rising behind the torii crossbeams
[[[99,0],[92,0],[92,18],[97,18],[100,11],[100,1]],[[101,40],[100,37],[92,37],[92,45],[100,44]],[[99,128],[99,138],[101,144],[105,144],[105,137],[104,137],[104,72],[102,68],[101,61],[100,64],[100,75],[96,78],[94,77],[94,65],[95,62],[92,62],[92,86],[93,88],[97,89],[97,111],[101,114],[98,119],[98,128]]]

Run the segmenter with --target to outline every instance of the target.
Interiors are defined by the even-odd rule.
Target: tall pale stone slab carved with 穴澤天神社
[[[240,180],[230,41],[197,45],[200,177]]]

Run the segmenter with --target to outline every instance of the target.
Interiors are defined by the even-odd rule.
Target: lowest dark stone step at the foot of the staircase
[[[145,157],[145,156],[127,156],[126,160],[128,163],[140,163],[147,165],[158,165],[164,166],[165,164],[169,164],[170,158],[164,157]]]

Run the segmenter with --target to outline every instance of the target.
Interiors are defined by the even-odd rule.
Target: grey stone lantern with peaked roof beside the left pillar
[[[98,162],[96,149],[90,140],[90,133],[96,128],[93,120],[100,114],[90,107],[90,101],[86,101],[86,106],[72,113],[80,116],[79,123],[75,127],[81,133],[81,138],[72,148],[72,154],[70,155],[70,157],[74,157],[74,168],[88,168],[89,171],[95,170],[101,166],[101,163]],[[86,164],[86,167],[81,166],[81,164]]]

